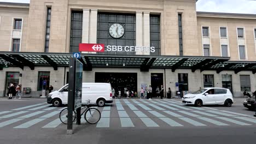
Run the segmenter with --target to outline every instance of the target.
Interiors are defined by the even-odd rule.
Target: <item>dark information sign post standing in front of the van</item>
[[[80,124],[82,80],[83,64],[77,58],[69,58],[67,134],[73,134],[73,110],[77,111],[77,124]]]

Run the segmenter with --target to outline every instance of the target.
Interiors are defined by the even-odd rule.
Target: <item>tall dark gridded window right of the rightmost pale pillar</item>
[[[150,15],[150,46],[155,47],[155,52],[150,52],[150,55],[161,54],[160,15]]]

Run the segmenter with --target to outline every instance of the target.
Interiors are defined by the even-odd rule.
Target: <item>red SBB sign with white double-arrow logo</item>
[[[104,44],[79,44],[79,51],[104,52]]]

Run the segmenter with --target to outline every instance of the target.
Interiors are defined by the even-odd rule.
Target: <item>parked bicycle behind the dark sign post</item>
[[[98,109],[94,108],[94,107],[90,108],[91,106],[89,105],[89,103],[90,103],[90,100],[88,100],[87,105],[81,109],[81,111],[82,111],[83,109],[86,108],[81,113],[81,116],[85,113],[84,114],[85,121],[90,123],[90,124],[95,124],[98,121],[100,121],[101,112]],[[60,118],[60,121],[63,124],[67,124],[67,117],[68,117],[68,109],[66,107],[65,109],[61,110],[59,118]],[[77,118],[77,113],[73,110],[73,121],[72,122],[74,122],[76,118]]]

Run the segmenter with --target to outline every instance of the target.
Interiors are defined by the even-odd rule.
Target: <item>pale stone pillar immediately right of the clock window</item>
[[[141,11],[136,11],[136,46],[143,46],[143,23]],[[142,52],[136,52],[136,55],[142,55]]]

